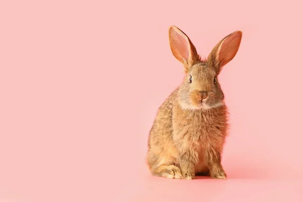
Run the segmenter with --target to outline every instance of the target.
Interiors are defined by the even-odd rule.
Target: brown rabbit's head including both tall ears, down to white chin
[[[241,31],[229,34],[213,48],[207,59],[201,60],[187,35],[175,26],[170,27],[171,51],[185,70],[178,94],[183,109],[210,109],[223,105],[224,94],[218,75],[236,55],[241,38]]]

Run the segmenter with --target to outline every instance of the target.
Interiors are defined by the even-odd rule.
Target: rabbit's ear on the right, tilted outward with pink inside
[[[222,67],[229,63],[238,52],[242,38],[241,31],[235,31],[223,38],[210,53],[208,62],[213,65],[219,74]]]

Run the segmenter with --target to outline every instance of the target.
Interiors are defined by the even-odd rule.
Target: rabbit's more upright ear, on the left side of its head
[[[192,65],[200,61],[196,48],[190,39],[175,26],[169,28],[169,44],[175,58],[183,63],[185,73]]]

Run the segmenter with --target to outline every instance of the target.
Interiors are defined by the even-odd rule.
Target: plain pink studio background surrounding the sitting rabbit
[[[0,2],[0,201],[303,201],[301,1]],[[183,77],[176,25],[220,82],[227,180],[150,176],[158,107]]]

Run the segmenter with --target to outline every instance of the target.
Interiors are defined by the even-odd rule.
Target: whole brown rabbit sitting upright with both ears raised
[[[175,26],[169,28],[171,51],[184,65],[185,77],[159,108],[149,132],[147,163],[153,175],[226,179],[221,154],[228,111],[218,75],[236,55],[241,38],[241,31],[229,34],[207,60],[201,60],[187,35]]]

